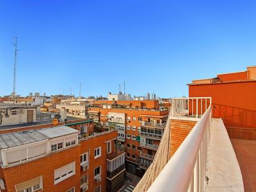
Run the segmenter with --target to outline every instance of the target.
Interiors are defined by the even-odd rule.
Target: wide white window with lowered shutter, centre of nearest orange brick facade
[[[72,175],[75,175],[75,162],[54,170],[54,185]]]

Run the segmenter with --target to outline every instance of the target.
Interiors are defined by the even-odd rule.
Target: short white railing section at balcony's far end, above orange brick
[[[211,106],[211,98],[173,98],[172,116],[189,116],[199,118]]]

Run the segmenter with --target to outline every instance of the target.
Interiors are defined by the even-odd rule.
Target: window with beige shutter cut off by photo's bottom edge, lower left
[[[18,192],[34,192],[42,188],[42,176],[15,186]]]

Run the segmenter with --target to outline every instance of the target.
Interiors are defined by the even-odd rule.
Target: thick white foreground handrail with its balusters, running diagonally
[[[208,167],[211,106],[149,188],[153,191],[204,191]]]

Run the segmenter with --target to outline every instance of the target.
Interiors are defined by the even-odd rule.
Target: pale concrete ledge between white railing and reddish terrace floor
[[[244,191],[239,163],[221,119],[211,122],[206,191]]]

